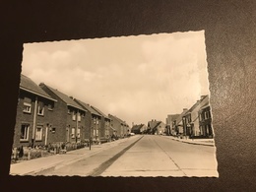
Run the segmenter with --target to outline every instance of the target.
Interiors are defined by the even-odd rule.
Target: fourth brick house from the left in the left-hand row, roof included
[[[92,106],[92,108],[94,108],[96,110],[96,112],[98,114],[101,115],[101,121],[100,121],[100,124],[101,124],[101,129],[100,129],[100,138],[101,139],[109,139],[110,138],[110,118],[105,115],[102,111],[100,111],[98,108],[96,108],[95,106]]]

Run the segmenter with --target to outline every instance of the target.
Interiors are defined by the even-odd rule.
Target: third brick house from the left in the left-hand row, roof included
[[[87,119],[90,121],[90,123],[87,123],[89,137],[92,137],[94,141],[98,141],[101,137],[100,130],[102,129],[101,115],[90,104],[76,98],[74,100],[88,111]]]

